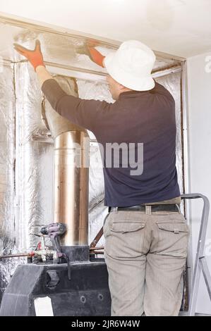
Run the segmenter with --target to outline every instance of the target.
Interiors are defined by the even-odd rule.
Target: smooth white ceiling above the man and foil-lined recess
[[[211,51],[211,0],[0,0],[0,10],[176,56]]]

